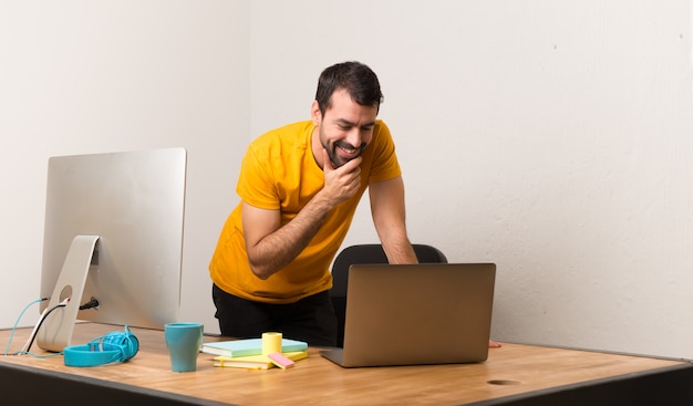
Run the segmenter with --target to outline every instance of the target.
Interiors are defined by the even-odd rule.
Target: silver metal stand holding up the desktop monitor
[[[37,332],[38,344],[41,348],[62,352],[64,347],[70,345],[86,283],[86,274],[99,237],[76,236],[72,240],[53,294],[45,309],[46,311],[53,309],[66,298],[70,298],[70,302],[66,306],[55,309],[45,315],[45,320]]]

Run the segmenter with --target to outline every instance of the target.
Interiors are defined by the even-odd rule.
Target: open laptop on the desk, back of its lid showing
[[[484,362],[494,263],[353,264],[343,348],[320,354],[343,367]]]

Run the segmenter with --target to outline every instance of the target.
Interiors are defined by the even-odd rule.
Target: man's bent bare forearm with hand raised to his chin
[[[289,264],[316,236],[330,210],[359,190],[362,158],[335,169],[327,152],[323,153],[324,186],[288,223],[281,226],[279,210],[242,204],[246,251],[250,269],[258,278],[267,279]]]

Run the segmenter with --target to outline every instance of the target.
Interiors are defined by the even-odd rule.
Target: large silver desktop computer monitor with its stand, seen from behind
[[[177,321],[186,167],[184,148],[49,159],[41,348],[71,345],[76,320],[151,329]],[[80,310],[92,298],[97,306]]]

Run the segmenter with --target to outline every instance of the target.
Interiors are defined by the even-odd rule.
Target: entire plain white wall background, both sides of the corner
[[[494,339],[693,358],[690,25],[685,0],[0,0],[0,326],[38,298],[50,156],[182,146],[180,320],[217,332],[247,144],[359,60],[412,241],[498,266]],[[376,241],[364,199],[345,244]]]

